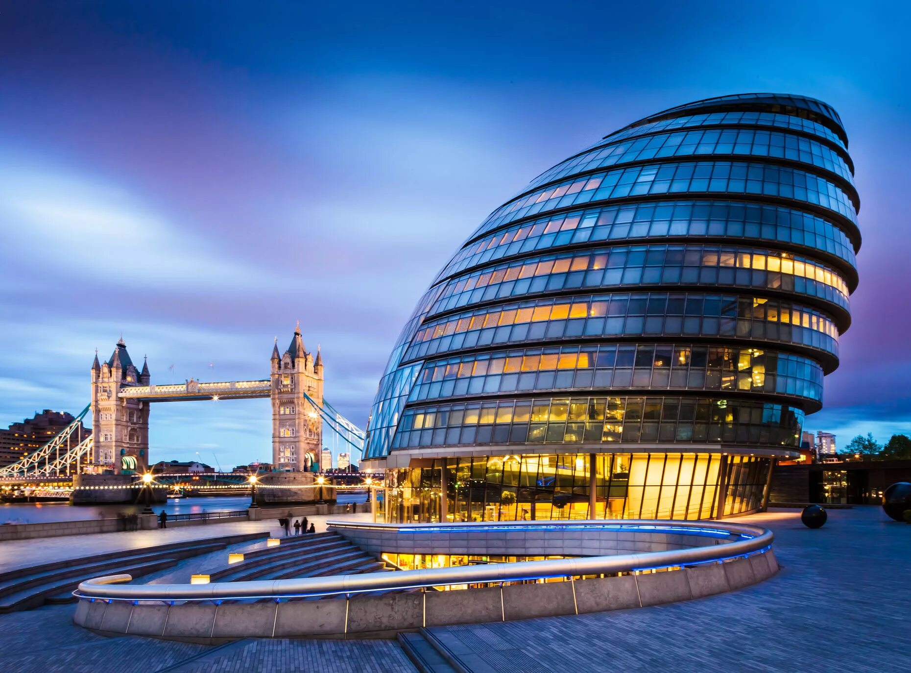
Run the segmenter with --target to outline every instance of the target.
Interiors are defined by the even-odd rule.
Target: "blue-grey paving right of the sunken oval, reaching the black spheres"
[[[878,507],[738,523],[771,528],[782,571],[728,594],[664,606],[428,630],[496,670],[911,670],[911,526]],[[534,667],[528,663],[535,662]]]

